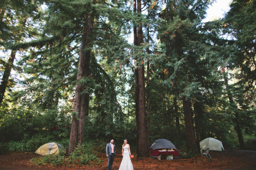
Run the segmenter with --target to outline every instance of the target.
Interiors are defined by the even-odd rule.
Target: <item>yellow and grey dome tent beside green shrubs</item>
[[[65,152],[65,149],[63,146],[55,142],[50,142],[50,143],[41,145],[36,150],[35,154],[38,154],[38,155],[59,154],[60,149],[63,150],[63,152]]]

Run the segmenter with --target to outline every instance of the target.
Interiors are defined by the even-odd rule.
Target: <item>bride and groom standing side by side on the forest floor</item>
[[[107,155],[107,170],[112,169],[114,158],[116,155],[116,145],[113,144],[114,139],[111,139],[110,143],[106,147]],[[124,139],[124,144],[122,145],[122,162],[120,164],[119,170],[133,170],[132,161],[130,160],[130,145],[127,144],[127,139]]]

